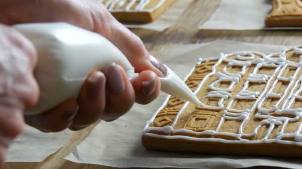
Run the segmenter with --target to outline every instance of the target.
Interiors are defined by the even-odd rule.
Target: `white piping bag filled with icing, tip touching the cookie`
[[[88,73],[111,63],[123,67],[129,80],[136,77],[124,54],[99,34],[67,23],[32,23],[13,26],[28,38],[38,52],[34,76],[40,88],[38,103],[24,114],[39,114],[62,101],[77,97]],[[191,89],[168,67],[159,78],[161,91],[200,105]]]

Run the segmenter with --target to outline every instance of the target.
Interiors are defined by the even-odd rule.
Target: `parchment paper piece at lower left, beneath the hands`
[[[72,135],[71,130],[43,133],[33,127],[25,129],[8,149],[6,162],[41,162],[55,153]]]

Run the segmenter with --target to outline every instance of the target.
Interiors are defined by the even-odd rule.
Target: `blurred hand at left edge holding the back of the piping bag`
[[[23,109],[38,99],[33,77],[37,55],[21,34],[0,24],[0,168],[4,154],[23,130]]]

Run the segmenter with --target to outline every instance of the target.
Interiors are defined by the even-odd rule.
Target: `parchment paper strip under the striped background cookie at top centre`
[[[172,27],[182,12],[193,0],[177,0],[167,10],[162,13],[155,21],[146,24],[127,24],[127,28],[145,28],[154,31],[163,31],[166,28]]]

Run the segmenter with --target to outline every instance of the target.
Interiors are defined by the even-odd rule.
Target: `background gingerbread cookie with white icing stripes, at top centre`
[[[148,23],[158,18],[175,0],[101,0],[120,22]]]

